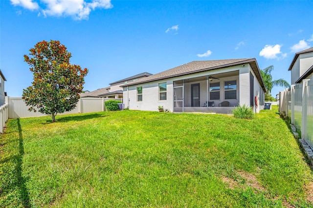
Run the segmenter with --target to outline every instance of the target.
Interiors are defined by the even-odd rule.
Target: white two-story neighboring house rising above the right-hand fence
[[[291,84],[313,79],[313,47],[296,53],[289,66]]]

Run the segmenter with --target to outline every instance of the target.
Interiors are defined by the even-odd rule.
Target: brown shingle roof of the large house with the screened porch
[[[139,84],[139,83],[148,83],[152,81],[178,77],[178,76],[187,75],[187,74],[194,74],[194,73],[199,73],[202,71],[210,71],[210,70],[215,70],[215,69],[220,69],[220,68],[226,68],[226,67],[241,65],[245,63],[249,63],[251,65],[254,73],[256,74],[257,79],[261,83],[262,88],[266,91],[261,74],[260,74],[258,63],[256,62],[256,59],[254,58],[253,59],[213,60],[213,61],[193,61],[193,62],[189,62],[186,64],[182,64],[180,66],[174,67],[172,69],[151,75],[149,77],[145,77],[135,82],[123,84],[122,87]]]

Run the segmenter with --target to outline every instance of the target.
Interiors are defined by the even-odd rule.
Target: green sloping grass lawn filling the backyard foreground
[[[273,110],[12,119],[0,207],[313,207],[313,173]]]

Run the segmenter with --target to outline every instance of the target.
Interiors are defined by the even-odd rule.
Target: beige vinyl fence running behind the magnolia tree
[[[105,111],[105,102],[108,100],[121,100],[121,99],[105,99],[105,98],[80,98],[76,108],[71,111],[64,112],[58,115],[66,115],[73,113],[91,113]],[[25,118],[25,117],[37,117],[46,116],[40,112],[29,111],[30,106],[26,106],[22,98],[7,98],[8,105],[8,118]]]

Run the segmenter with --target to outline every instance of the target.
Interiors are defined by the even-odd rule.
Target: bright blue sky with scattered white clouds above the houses
[[[295,52],[313,47],[313,1],[0,0],[0,69],[10,97],[32,74],[23,55],[59,40],[88,68],[84,90],[202,60],[256,58],[289,83]],[[274,87],[272,95],[282,90]]]

